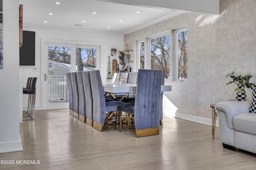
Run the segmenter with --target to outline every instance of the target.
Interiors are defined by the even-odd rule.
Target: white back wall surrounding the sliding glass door
[[[103,53],[100,59],[100,72],[102,75],[102,81],[106,80],[107,76],[107,63],[109,56],[109,46],[119,46],[119,50],[124,47],[124,36],[118,34],[108,34],[92,31],[70,31],[70,30],[56,30],[56,29],[37,29],[24,27],[24,31],[36,32],[36,51],[35,51],[35,66],[41,67],[41,39],[58,39],[58,40],[72,40],[72,41],[92,41],[102,42]],[[33,71],[33,66],[20,66],[20,78],[23,79],[23,86],[26,86],[28,77],[37,77],[36,82],[36,109],[44,109],[41,106],[41,88],[44,77],[41,77],[41,72],[44,72],[43,68],[40,68],[39,72]],[[27,106],[27,96],[23,96],[23,109]]]

